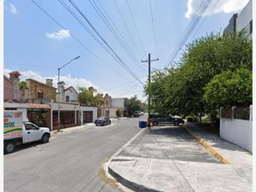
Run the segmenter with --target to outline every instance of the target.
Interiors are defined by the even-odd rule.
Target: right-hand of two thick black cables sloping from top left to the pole
[[[99,38],[101,38],[101,39],[102,39],[102,42],[108,46],[108,49],[110,49],[110,50],[113,52],[113,55],[116,56],[116,58],[117,58],[118,61],[119,61],[119,64],[120,64],[122,67],[124,67],[125,70],[126,70],[128,73],[130,73],[133,78],[137,79],[141,84],[143,84],[143,82],[142,82],[140,79],[137,78],[137,75],[131,71],[131,69],[125,64],[124,61],[122,61],[122,59],[119,57],[119,55],[117,55],[117,54],[115,53],[115,51],[114,51],[114,50],[112,49],[112,47],[107,43],[107,41],[106,41],[104,38],[102,38],[102,35],[101,35],[99,32],[97,32],[96,28],[90,23],[90,20],[88,20],[88,19],[85,17],[85,15],[84,15],[83,12],[78,8],[78,6],[77,6],[75,3],[73,3],[73,1],[71,1],[71,0],[69,0],[69,2],[73,5],[73,7],[74,7],[75,9],[77,9],[77,10],[79,11],[79,14],[83,16],[84,20],[89,24],[89,26],[93,29],[93,31],[96,32],[97,36],[98,36]]]

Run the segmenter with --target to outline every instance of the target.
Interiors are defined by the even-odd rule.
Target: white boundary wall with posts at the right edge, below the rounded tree
[[[235,119],[236,107],[231,110],[231,119],[223,118],[223,108],[220,109],[220,137],[234,143],[247,151],[253,151],[253,106],[250,106],[249,119]]]

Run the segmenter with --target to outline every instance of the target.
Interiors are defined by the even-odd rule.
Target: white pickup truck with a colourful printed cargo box
[[[3,112],[3,148],[4,153],[15,151],[17,145],[41,141],[48,143],[50,137],[49,128],[38,127],[31,122],[23,122],[21,111]]]

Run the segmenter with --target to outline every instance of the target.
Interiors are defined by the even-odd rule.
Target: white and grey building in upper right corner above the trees
[[[241,32],[244,30],[247,33],[248,40],[253,38],[253,0],[250,0],[240,14],[234,14],[229,25],[224,29],[224,34],[231,32]]]

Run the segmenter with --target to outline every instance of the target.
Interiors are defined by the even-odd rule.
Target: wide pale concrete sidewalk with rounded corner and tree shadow
[[[113,157],[108,162],[108,172],[134,191],[253,190],[251,154],[193,124],[187,127],[220,150],[233,164],[223,164],[184,128],[154,127]]]

